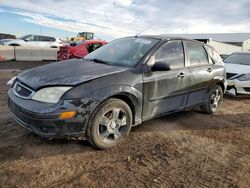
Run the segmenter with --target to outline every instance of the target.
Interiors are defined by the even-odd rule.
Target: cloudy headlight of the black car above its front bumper
[[[47,87],[38,90],[32,99],[40,102],[57,103],[71,87]]]

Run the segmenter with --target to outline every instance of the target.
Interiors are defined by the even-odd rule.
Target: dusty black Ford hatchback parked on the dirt
[[[84,59],[24,71],[8,95],[13,118],[28,130],[106,149],[155,117],[194,106],[212,114],[224,90],[212,47],[160,35],[117,39]]]

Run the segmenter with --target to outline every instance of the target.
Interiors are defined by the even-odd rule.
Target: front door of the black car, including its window
[[[151,119],[169,111],[181,110],[188,98],[189,68],[185,67],[185,55],[181,40],[169,41],[151,57],[149,64],[158,61],[170,65],[169,71],[143,73],[143,119]]]

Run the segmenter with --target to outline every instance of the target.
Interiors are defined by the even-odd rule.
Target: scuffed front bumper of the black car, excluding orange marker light
[[[85,99],[62,100],[49,104],[21,99],[8,92],[9,108],[14,120],[26,129],[47,138],[83,137],[89,117],[98,101]],[[75,111],[73,118],[62,120],[62,112]]]

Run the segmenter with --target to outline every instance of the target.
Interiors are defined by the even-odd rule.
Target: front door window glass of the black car
[[[170,41],[155,54],[155,61],[169,64],[171,68],[184,67],[184,50],[181,41]]]

